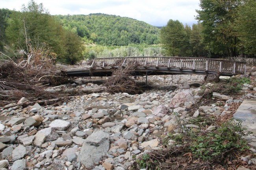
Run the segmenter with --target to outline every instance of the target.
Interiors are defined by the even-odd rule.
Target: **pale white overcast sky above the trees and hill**
[[[0,0],[0,8],[20,10],[29,0]],[[200,0],[35,0],[43,3],[51,15],[88,15],[104,13],[126,16],[153,26],[165,26],[169,19],[183,24],[197,23],[195,9]]]

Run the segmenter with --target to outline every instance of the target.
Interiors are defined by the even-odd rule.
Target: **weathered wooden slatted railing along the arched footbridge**
[[[111,57],[95,58],[91,67],[126,67],[137,64],[138,68],[189,69],[224,73],[246,73],[243,61],[219,60],[211,58],[189,57]]]

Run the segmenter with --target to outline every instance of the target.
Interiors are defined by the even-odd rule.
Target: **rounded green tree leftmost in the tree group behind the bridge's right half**
[[[185,46],[186,31],[180,21],[169,20],[167,25],[162,27],[160,38],[163,48],[168,51],[169,55],[181,56],[182,48]]]

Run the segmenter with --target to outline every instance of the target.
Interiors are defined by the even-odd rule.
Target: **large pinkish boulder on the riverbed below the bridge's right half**
[[[170,108],[178,108],[182,106],[185,102],[191,102],[193,100],[193,94],[190,90],[185,90],[177,93],[170,102]]]

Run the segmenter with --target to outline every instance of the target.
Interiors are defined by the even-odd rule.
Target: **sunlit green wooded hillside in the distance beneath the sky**
[[[83,41],[104,46],[159,44],[160,29],[143,21],[102,13],[55,15],[63,28],[77,33]]]

